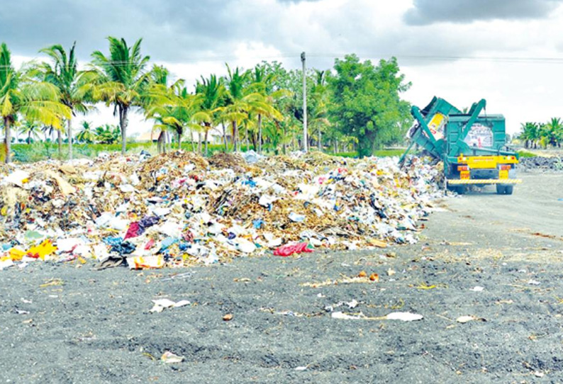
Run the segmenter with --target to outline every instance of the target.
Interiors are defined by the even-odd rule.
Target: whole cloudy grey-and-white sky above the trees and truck
[[[335,57],[398,57],[413,86],[404,95],[425,106],[432,96],[459,108],[486,98],[524,121],[563,117],[563,0],[19,0],[0,7],[0,39],[16,64],[40,60],[40,48],[77,41],[82,62],[107,52],[108,35],[189,82],[223,74],[225,62],[252,67],[278,60],[332,67]],[[83,117],[75,119],[79,125]],[[88,120],[117,123],[101,108]],[[133,116],[130,129],[150,129]]]

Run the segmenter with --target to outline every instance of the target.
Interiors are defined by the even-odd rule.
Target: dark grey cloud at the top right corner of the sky
[[[414,0],[404,20],[411,26],[478,20],[545,18],[562,0]]]

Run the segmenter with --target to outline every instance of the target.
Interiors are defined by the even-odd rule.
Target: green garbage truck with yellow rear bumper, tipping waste
[[[482,113],[481,112],[485,112]],[[445,186],[465,193],[469,186],[496,186],[496,193],[511,195],[516,178],[518,153],[506,146],[503,115],[487,115],[486,101],[473,103],[464,112],[443,98],[434,97],[420,110],[411,108],[415,123],[408,131],[408,148],[414,145],[444,164]]]

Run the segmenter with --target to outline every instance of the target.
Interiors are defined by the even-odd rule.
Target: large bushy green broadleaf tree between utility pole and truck
[[[356,55],[335,61],[335,76],[329,78],[330,118],[345,135],[357,138],[360,157],[374,147],[395,142],[411,122],[409,105],[400,94],[405,84],[395,58],[374,66]]]

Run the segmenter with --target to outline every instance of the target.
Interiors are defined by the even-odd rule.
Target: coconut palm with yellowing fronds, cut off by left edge
[[[38,81],[25,69],[16,71],[5,43],[0,45],[0,116],[4,123],[4,144],[10,162],[11,125],[21,113],[26,120],[61,128],[62,118],[70,118],[68,106],[60,103],[60,91],[46,81]]]

